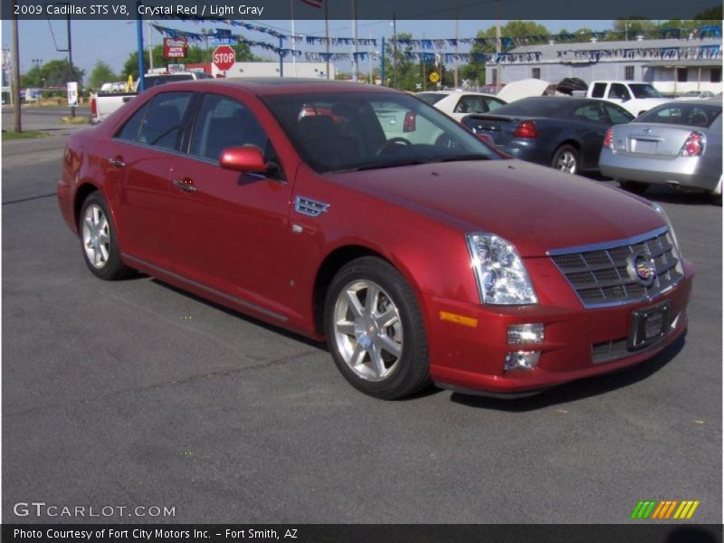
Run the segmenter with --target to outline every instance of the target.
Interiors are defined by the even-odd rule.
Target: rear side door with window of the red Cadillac
[[[171,176],[191,99],[191,92],[157,94],[111,139],[107,157],[121,251],[169,270],[177,199]]]

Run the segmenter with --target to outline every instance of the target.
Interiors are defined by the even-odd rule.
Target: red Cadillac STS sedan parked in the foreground
[[[351,83],[148,90],[75,133],[58,201],[100,279],[129,269],[325,339],[368,395],[521,395],[633,366],[687,325],[658,205],[501,156]]]

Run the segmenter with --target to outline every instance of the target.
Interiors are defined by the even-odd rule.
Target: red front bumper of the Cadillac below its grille
[[[541,300],[538,305],[522,307],[482,306],[427,296],[424,306],[425,317],[432,325],[428,326],[428,342],[433,381],[455,390],[521,395],[639,364],[670,345],[687,327],[693,267],[691,262],[682,262],[685,276],[670,291],[653,300],[614,307],[584,309],[577,299],[568,296],[562,297],[560,305]],[[570,293],[575,298],[572,289]],[[620,346],[629,336],[632,312],[665,300],[671,302],[672,317],[667,334],[648,348],[622,350]],[[465,320],[466,325],[442,320],[441,311],[469,317],[477,325],[473,327],[472,320]],[[508,345],[508,326],[527,323],[544,325],[544,342]],[[614,347],[602,359],[602,348],[609,345]],[[506,355],[521,350],[539,351],[538,365],[531,370],[504,371]]]

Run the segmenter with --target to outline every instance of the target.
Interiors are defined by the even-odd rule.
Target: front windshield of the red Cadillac
[[[319,173],[500,158],[460,124],[407,94],[315,92],[264,101]]]

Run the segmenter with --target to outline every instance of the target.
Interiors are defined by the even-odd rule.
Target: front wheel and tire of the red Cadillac
[[[335,364],[357,390],[394,400],[430,385],[422,312],[388,262],[366,256],[345,264],[329,285],[324,323]]]

